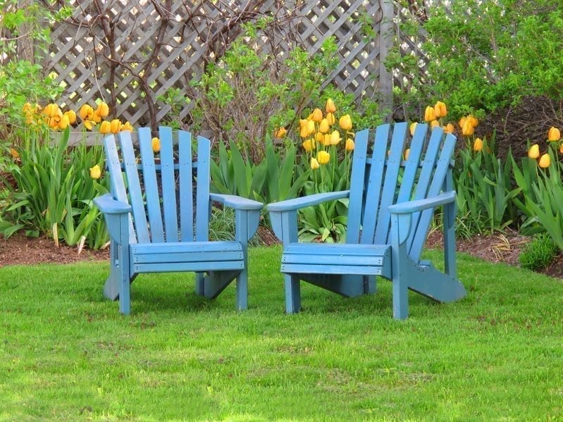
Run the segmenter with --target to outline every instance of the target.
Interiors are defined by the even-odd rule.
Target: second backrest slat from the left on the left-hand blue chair
[[[121,158],[123,159],[123,170],[127,177],[130,197],[130,201],[128,202],[132,208],[137,241],[139,243],[150,242],[149,230],[147,230],[147,216],[142,201],[141,184],[139,181],[139,173],[137,173],[137,161],[135,159],[135,151],[133,151],[131,134],[128,131],[120,132],[118,139],[121,149]]]

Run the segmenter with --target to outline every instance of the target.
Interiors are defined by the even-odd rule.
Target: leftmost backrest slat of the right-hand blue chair
[[[357,132],[354,148],[354,161],[352,161],[352,172],[350,175],[350,186],[364,185],[366,173],[366,158],[369,141],[369,130]],[[348,227],[346,232],[347,243],[357,243],[359,239],[359,230],[361,223],[361,206],[353,204],[362,204],[364,202],[364,192],[361,189],[350,190],[348,200]]]

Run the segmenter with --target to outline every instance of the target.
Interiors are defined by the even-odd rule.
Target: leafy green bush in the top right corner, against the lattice
[[[404,93],[409,97],[401,99],[414,110],[416,104],[441,99],[459,117],[493,111],[524,95],[559,98],[561,2],[462,0],[426,11],[427,20],[412,13],[401,25],[414,39],[425,33],[421,51],[427,76],[419,77],[419,58],[402,56],[399,46],[387,63],[412,80]]]

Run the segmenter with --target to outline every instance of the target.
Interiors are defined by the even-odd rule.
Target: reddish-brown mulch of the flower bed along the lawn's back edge
[[[260,226],[258,231],[261,244],[276,244],[278,240],[271,230]],[[492,262],[505,262],[512,266],[519,266],[518,256],[521,248],[529,238],[516,232],[506,232],[490,236],[474,236],[469,240],[458,239],[456,248],[472,256]],[[441,248],[442,235],[439,230],[431,232],[426,242],[428,248]],[[53,240],[47,237],[25,237],[17,233],[4,239],[0,237],[0,267],[14,264],[34,263],[72,263],[78,261],[108,261],[109,248],[93,251],[61,245],[56,247]],[[542,273],[555,278],[563,278],[563,254],[545,268]]]

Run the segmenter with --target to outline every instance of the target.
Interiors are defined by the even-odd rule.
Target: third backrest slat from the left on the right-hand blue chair
[[[395,123],[391,139],[387,170],[385,171],[385,181],[383,182],[383,192],[379,203],[379,213],[377,217],[376,235],[373,241],[378,244],[387,242],[388,233],[391,225],[391,213],[388,207],[395,204],[397,193],[397,180],[402,163],[404,152],[404,142],[407,139],[407,123]]]

